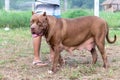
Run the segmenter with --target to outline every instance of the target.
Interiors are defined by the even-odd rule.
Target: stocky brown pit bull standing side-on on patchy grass
[[[45,36],[46,41],[54,52],[52,71],[57,71],[57,64],[62,65],[60,52],[65,49],[69,52],[74,49],[86,48],[92,54],[93,63],[97,61],[95,46],[102,55],[104,67],[108,67],[107,55],[105,52],[105,38],[109,43],[109,29],[105,20],[96,16],[86,16],[75,19],[55,18],[54,16],[33,14],[31,17],[31,32]]]

